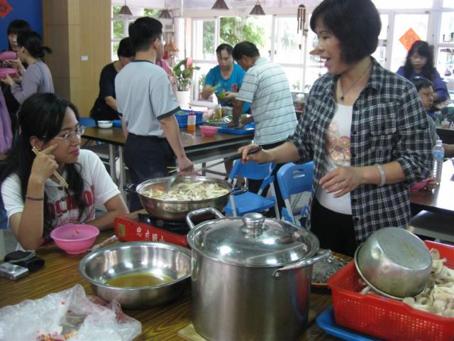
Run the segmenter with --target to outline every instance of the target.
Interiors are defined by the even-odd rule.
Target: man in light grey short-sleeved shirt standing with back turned
[[[155,65],[164,53],[162,23],[155,18],[138,18],[129,26],[135,60],[115,78],[118,112],[127,128],[125,163],[133,183],[167,176],[168,167],[192,171],[184,153],[175,113],[179,106],[167,74]],[[142,207],[138,195],[131,197],[130,210]]]

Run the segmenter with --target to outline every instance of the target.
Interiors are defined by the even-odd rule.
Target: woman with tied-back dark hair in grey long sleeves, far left
[[[42,60],[45,53],[52,53],[52,50],[43,46],[41,36],[34,31],[22,33],[18,36],[17,43],[18,57],[22,63],[28,64],[27,70],[19,67],[22,79],[17,77],[13,80],[6,75],[1,82],[11,86],[11,92],[20,104],[37,92],[54,92],[52,75],[48,65],[45,65]]]

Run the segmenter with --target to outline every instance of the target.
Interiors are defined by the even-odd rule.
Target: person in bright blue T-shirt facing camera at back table
[[[223,107],[233,107],[233,99],[243,84],[245,71],[240,65],[233,63],[233,47],[221,44],[216,48],[218,65],[209,70],[205,77],[204,90],[201,92],[203,99],[208,99],[211,94],[216,94],[218,103]],[[249,104],[245,103],[243,112],[247,112]]]

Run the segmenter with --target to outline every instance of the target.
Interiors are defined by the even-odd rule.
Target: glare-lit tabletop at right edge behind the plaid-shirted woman
[[[448,160],[443,163],[441,183],[433,190],[410,193],[411,206],[416,210],[454,214],[454,166]]]

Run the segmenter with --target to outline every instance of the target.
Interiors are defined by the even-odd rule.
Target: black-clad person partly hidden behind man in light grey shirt
[[[129,37],[120,40],[118,60],[103,67],[99,77],[99,94],[94,102],[90,117],[96,121],[119,119],[116,107],[115,77],[118,72],[134,59],[134,48]]]

